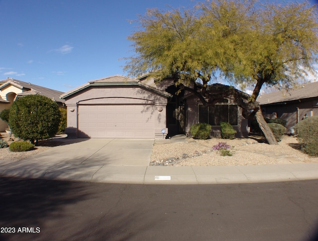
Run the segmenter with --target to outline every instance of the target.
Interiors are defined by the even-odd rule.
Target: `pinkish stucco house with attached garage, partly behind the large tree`
[[[230,86],[214,84],[209,91],[224,88]],[[189,134],[198,122],[211,123],[211,134],[218,135],[221,121],[230,122],[240,135],[248,133],[248,121],[233,98],[204,107],[191,93],[175,95],[168,78],[157,82],[148,75],[136,79],[114,75],[89,81],[61,98],[67,106],[70,137],[165,138]]]

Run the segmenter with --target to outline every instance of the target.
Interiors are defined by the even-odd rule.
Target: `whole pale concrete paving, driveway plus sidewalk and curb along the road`
[[[21,161],[1,161],[0,175],[138,184],[218,184],[318,179],[318,163],[160,167],[149,166],[154,144],[154,140],[151,139],[68,139],[66,141],[68,142],[66,145],[53,147]],[[182,141],[182,137],[173,141]]]

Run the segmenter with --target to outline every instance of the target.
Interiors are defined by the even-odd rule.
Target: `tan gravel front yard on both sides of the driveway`
[[[1,133],[1,139],[8,143],[9,137]],[[268,145],[258,136],[224,140],[211,138],[196,140],[185,138],[186,142],[155,142],[150,166],[247,166],[273,165],[288,163],[318,162],[318,157],[311,157],[300,150],[297,138],[284,136],[278,145]],[[212,147],[219,142],[226,142],[232,148],[232,156],[221,156]],[[33,150],[10,152],[9,148],[0,149],[0,160],[22,160],[37,153],[58,146],[63,142],[43,140]]]

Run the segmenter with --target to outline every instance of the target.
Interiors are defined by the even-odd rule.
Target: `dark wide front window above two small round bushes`
[[[229,101],[218,102],[215,106],[205,107],[199,105],[199,122],[211,125],[220,125],[221,122],[238,124],[238,105],[229,104]]]

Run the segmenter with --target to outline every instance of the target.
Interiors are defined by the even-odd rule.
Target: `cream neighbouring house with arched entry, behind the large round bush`
[[[25,95],[43,95],[57,102],[63,107],[65,100],[60,99],[61,91],[52,90],[35,84],[8,78],[0,81],[0,112],[9,109],[12,103]],[[7,128],[7,124],[0,120],[0,131]]]

